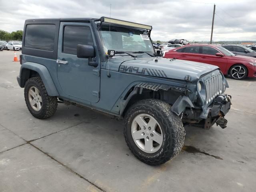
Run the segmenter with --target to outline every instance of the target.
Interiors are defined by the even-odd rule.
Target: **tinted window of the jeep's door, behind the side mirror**
[[[65,26],[62,52],[76,55],[78,44],[93,46],[90,28],[86,26]]]

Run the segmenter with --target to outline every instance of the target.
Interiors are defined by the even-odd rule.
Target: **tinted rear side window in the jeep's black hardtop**
[[[56,26],[54,24],[31,24],[26,27],[25,47],[48,50],[54,49]]]

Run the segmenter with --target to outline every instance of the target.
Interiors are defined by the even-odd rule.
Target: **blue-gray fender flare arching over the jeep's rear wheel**
[[[59,95],[58,90],[52,80],[52,76],[50,75],[50,72],[48,71],[46,66],[34,62],[26,62],[21,65],[20,76],[17,77],[20,87],[24,88],[25,83],[29,78],[30,70],[33,70],[40,75],[40,78],[44,83],[48,95]]]

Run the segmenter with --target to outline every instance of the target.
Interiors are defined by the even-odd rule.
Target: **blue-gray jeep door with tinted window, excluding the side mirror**
[[[89,23],[61,22],[58,39],[57,75],[64,94],[73,100],[98,102],[100,92],[100,58],[98,67],[88,65],[88,58],[76,56],[77,44],[94,46],[96,43]]]

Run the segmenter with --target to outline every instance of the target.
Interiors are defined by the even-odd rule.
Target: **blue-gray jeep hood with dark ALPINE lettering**
[[[117,60],[111,63],[117,63]],[[185,80],[186,76],[190,76],[191,81],[198,80],[200,76],[216,69],[218,69],[217,66],[199,62],[155,57],[127,58],[127,60],[122,58],[119,66],[119,71],[124,73],[134,73],[178,80]]]

